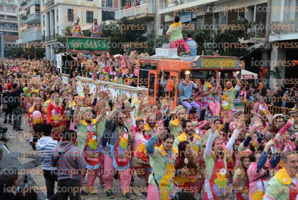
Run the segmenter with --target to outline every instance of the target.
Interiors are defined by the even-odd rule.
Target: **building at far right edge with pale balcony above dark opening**
[[[271,8],[268,39],[272,44],[270,69],[279,67],[282,78],[293,80],[297,78],[298,67],[298,0],[270,0],[268,3]],[[284,65],[282,61],[289,65]],[[276,85],[274,79],[270,80],[270,84]],[[284,83],[280,85],[284,86]]]

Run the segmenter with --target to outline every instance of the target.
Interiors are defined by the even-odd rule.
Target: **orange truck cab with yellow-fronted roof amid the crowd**
[[[151,56],[140,57],[138,69],[137,86],[147,88],[147,99],[150,104],[156,104],[159,98],[168,96],[171,100],[171,109],[174,109],[179,103],[178,84],[184,79],[186,72],[190,72],[192,81],[200,79],[202,84],[207,75],[213,74],[217,79],[222,79],[221,85],[224,86],[225,79],[233,78],[233,71],[240,73],[244,69],[244,62],[237,57],[226,56],[185,56],[175,59]],[[168,78],[167,90],[161,84],[162,69]]]

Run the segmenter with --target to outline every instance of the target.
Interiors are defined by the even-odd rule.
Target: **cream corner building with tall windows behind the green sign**
[[[41,0],[41,31],[46,44],[46,59],[55,60],[56,34],[72,26],[75,18],[80,18],[83,30],[89,29],[93,19],[98,22],[114,20],[120,8],[116,0]]]

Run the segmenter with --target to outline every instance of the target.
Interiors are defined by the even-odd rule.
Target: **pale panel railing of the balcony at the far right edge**
[[[271,23],[271,34],[298,33],[298,19]]]

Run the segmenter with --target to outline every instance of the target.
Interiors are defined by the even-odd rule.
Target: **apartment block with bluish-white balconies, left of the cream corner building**
[[[19,39],[17,44],[41,42],[40,0],[20,0]]]

